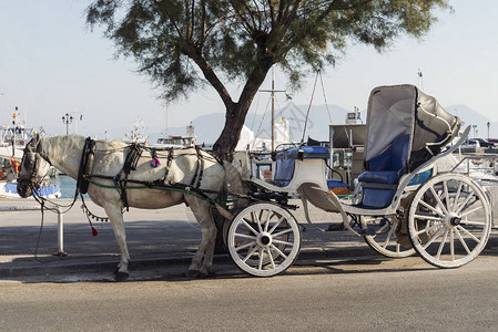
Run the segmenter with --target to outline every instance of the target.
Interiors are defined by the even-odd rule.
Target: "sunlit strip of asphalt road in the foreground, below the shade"
[[[496,331],[498,258],[302,262],[274,278],[0,282],[0,331]]]

